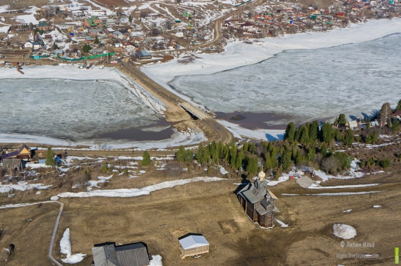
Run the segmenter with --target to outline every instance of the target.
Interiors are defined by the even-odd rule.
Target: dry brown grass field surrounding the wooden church
[[[141,179],[147,178],[137,178],[138,187],[148,183],[148,180],[142,182]],[[290,224],[288,228],[276,224],[271,230],[256,228],[244,214],[233,193],[237,188],[233,180],[189,183],[134,198],[62,198],[60,201],[65,205],[53,256],[59,260],[62,257],[59,242],[64,230],[70,228],[72,252],[88,254],[78,265],[88,265],[93,259],[93,244],[105,241],[143,241],[149,254],[160,254],[165,265],[390,263],[393,247],[399,245],[396,236],[400,229],[394,218],[399,212],[401,199],[399,175],[333,180],[330,185],[378,180],[383,184],[374,190],[385,192],[349,196],[306,196],[303,194],[310,193],[310,189],[301,188],[294,180],[271,187],[279,197],[277,206],[281,212],[276,217]],[[319,192],[339,192],[339,189]],[[281,193],[300,195],[281,196]],[[372,208],[373,205],[382,207]],[[352,211],[342,212],[347,209]],[[8,265],[27,265],[27,261],[50,264],[47,250],[57,210],[58,205],[53,203],[43,204],[40,208],[0,210],[0,224],[5,229],[0,245],[7,246],[13,242],[17,246]],[[31,218],[32,221],[28,221]],[[355,227],[357,235],[349,241],[372,242],[374,247],[342,248],[341,239],[332,234],[335,222]],[[188,232],[203,233],[211,244],[210,253],[198,260],[179,258],[177,238]],[[341,252],[377,253],[379,257],[340,259],[337,253]]]

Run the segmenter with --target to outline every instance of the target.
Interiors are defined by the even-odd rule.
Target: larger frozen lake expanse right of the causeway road
[[[401,34],[392,34],[359,44],[287,50],[258,64],[178,76],[169,84],[214,112],[266,113],[266,126],[339,113],[363,117],[401,99],[400,42]],[[285,118],[269,121],[272,115]]]

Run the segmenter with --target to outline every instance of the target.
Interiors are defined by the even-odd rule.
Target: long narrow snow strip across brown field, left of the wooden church
[[[211,182],[226,180],[219,177],[194,177],[188,179],[178,179],[172,181],[165,181],[158,184],[145,186],[142,188],[121,188],[121,189],[103,189],[103,190],[91,190],[85,192],[63,192],[57,195],[57,197],[68,198],[68,197],[137,197],[141,195],[148,195],[150,192],[160,190],[163,188],[170,188],[177,185],[184,185],[191,182]],[[52,197],[53,199],[56,196]]]

